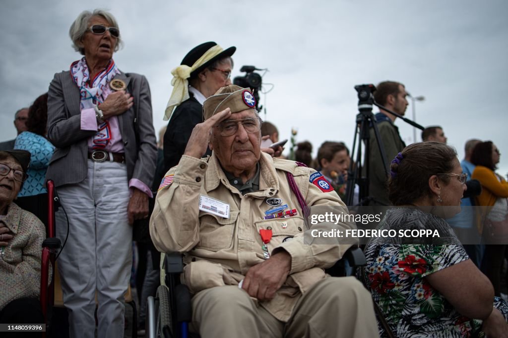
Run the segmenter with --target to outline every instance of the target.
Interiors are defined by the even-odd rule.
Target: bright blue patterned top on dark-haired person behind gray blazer
[[[16,137],[14,149],[23,149],[31,154],[28,178],[23,183],[23,189],[18,197],[34,196],[46,193],[44,180],[48,170],[49,160],[53,156],[55,147],[41,135],[24,131]]]

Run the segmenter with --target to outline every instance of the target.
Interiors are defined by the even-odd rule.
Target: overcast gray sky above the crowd
[[[325,140],[351,147],[355,85],[395,80],[425,96],[416,102],[416,121],[441,125],[460,159],[467,139],[492,140],[502,153],[498,171],[508,172],[508,3],[502,0],[2,0],[0,140],[15,137],[15,111],[81,57],[69,27],[94,8],[110,10],[119,23],[124,48],[114,55],[117,66],[149,81],[156,132],[165,125],[171,70],[196,45],[215,41],[237,47],[233,77],[244,64],[269,69],[263,82],[274,87],[262,95],[262,118],[281,138],[297,129],[298,141],[312,142],[314,156]],[[411,143],[412,127],[396,124]]]

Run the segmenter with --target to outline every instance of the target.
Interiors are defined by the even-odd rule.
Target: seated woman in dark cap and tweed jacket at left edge
[[[5,324],[44,322],[38,297],[46,232],[39,218],[13,203],[29,163],[27,151],[0,152],[0,323]]]

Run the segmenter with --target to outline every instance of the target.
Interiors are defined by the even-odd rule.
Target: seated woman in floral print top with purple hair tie
[[[377,229],[430,229],[440,237],[372,238],[365,247],[358,275],[377,304],[381,336],[507,336],[508,304],[494,297],[444,220],[460,211],[465,181],[455,150],[442,143],[411,144],[392,161],[395,208]]]

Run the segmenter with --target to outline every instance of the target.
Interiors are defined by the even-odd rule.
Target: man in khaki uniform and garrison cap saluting
[[[238,86],[210,96],[157,194],[150,234],[161,251],[188,251],[191,329],[203,338],[377,336],[367,290],[323,270],[351,245],[304,243],[307,205],[344,204],[321,174],[261,152],[255,106]]]

